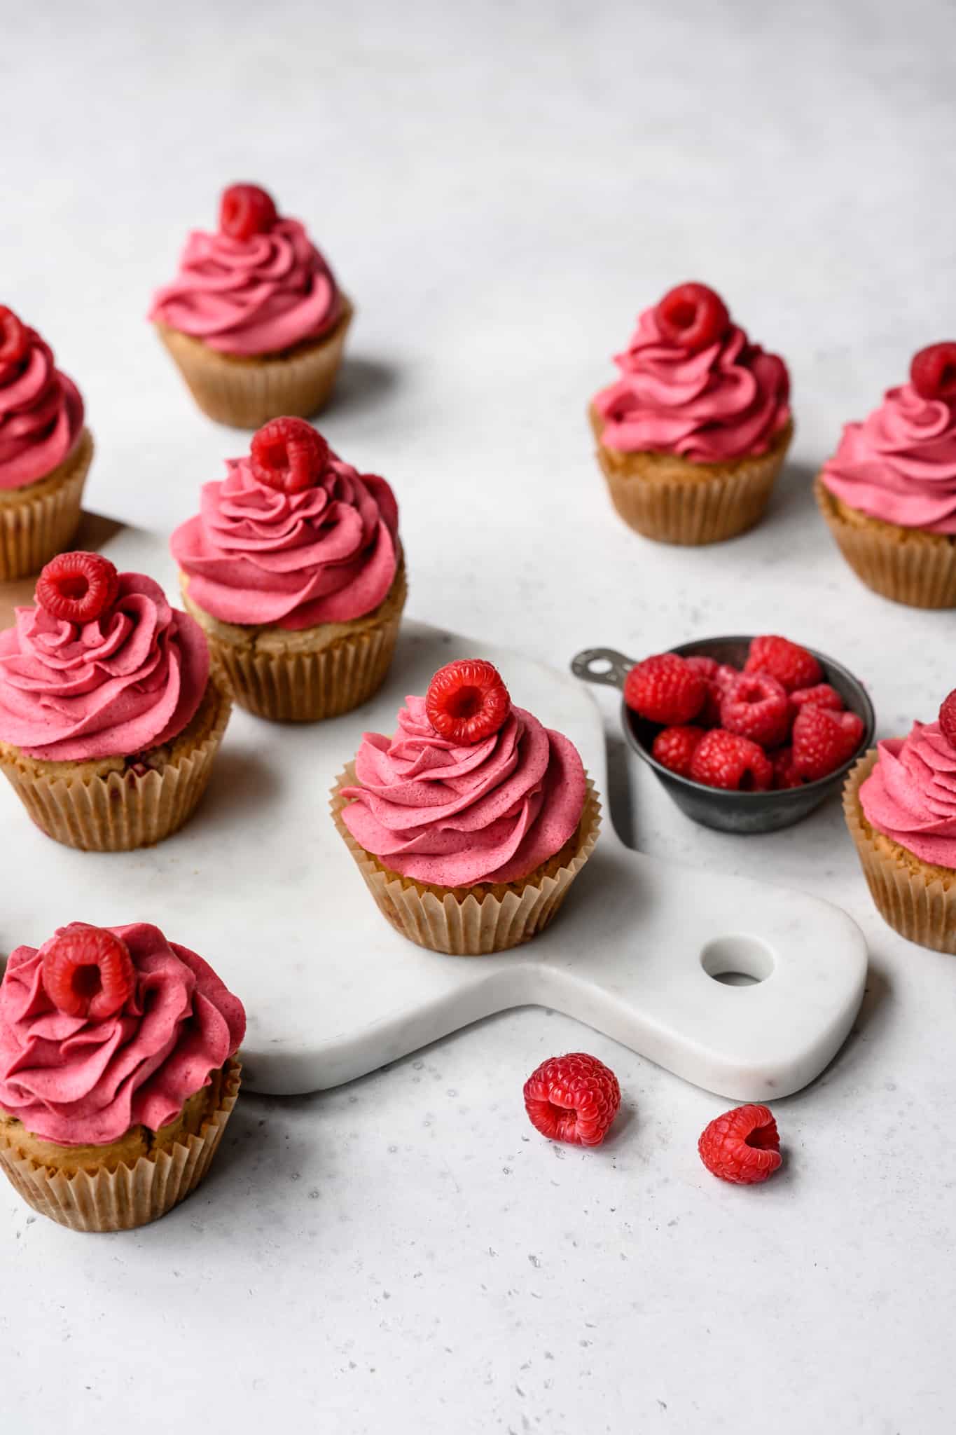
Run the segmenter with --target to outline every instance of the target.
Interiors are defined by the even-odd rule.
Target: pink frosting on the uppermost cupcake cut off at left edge
[[[0,362],[0,489],[24,488],[70,456],[83,432],[83,399],[34,329],[14,363]]]

